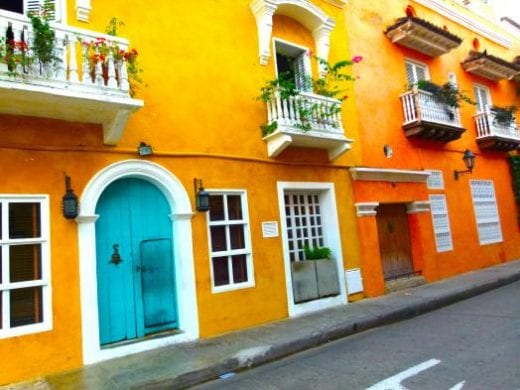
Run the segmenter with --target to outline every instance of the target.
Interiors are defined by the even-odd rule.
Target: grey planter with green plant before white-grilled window
[[[334,260],[304,260],[291,263],[294,303],[339,294],[338,271]]]

